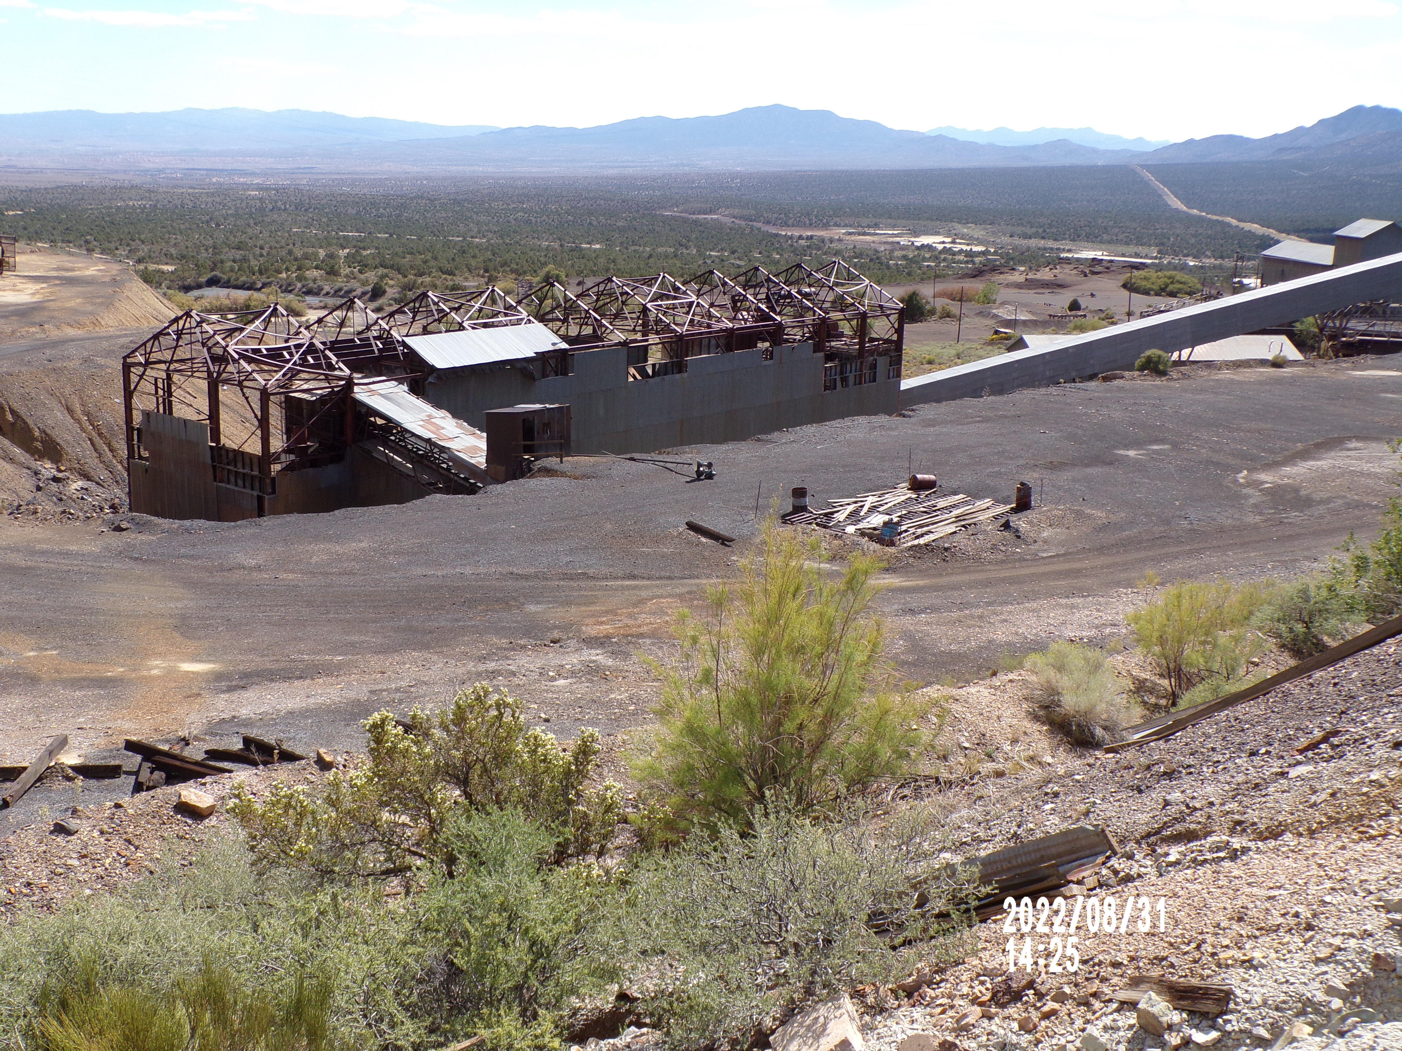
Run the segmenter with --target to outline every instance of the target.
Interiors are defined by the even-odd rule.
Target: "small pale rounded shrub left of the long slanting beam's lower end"
[[[1106,744],[1138,722],[1138,708],[1095,646],[1054,642],[1023,667],[1036,680],[1042,717],[1077,744]]]

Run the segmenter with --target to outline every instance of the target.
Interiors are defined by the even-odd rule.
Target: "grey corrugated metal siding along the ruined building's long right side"
[[[627,348],[576,353],[572,376],[527,380],[520,370],[437,373],[426,398],[475,427],[482,412],[523,404],[571,406],[575,453],[646,453],[677,446],[742,441],[782,427],[844,416],[887,415],[899,383],[876,363],[876,383],[823,390],[823,356],[809,343],[687,359],[687,371],[628,378]],[[522,381],[526,380],[523,384]]]

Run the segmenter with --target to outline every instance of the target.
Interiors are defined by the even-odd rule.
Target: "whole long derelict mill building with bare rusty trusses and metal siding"
[[[122,363],[130,503],[231,521],[471,493],[569,453],[576,402],[596,443],[641,443],[617,451],[890,411],[896,384],[873,385],[899,380],[903,332],[901,305],[836,259],[520,301],[422,291],[383,314],[191,310]],[[505,409],[494,461],[486,413]]]

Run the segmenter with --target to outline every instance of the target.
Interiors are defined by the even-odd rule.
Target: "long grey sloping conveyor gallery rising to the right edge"
[[[1172,353],[1354,303],[1402,294],[1402,254],[1326,270],[1269,289],[1070,336],[1049,349],[1014,350],[900,384],[901,405],[1008,394],[1133,369],[1145,350]]]

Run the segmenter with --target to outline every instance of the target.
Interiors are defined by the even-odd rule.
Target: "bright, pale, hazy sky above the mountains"
[[[781,102],[892,128],[1249,136],[1402,107],[1389,0],[0,0],[0,111],[590,126]]]

